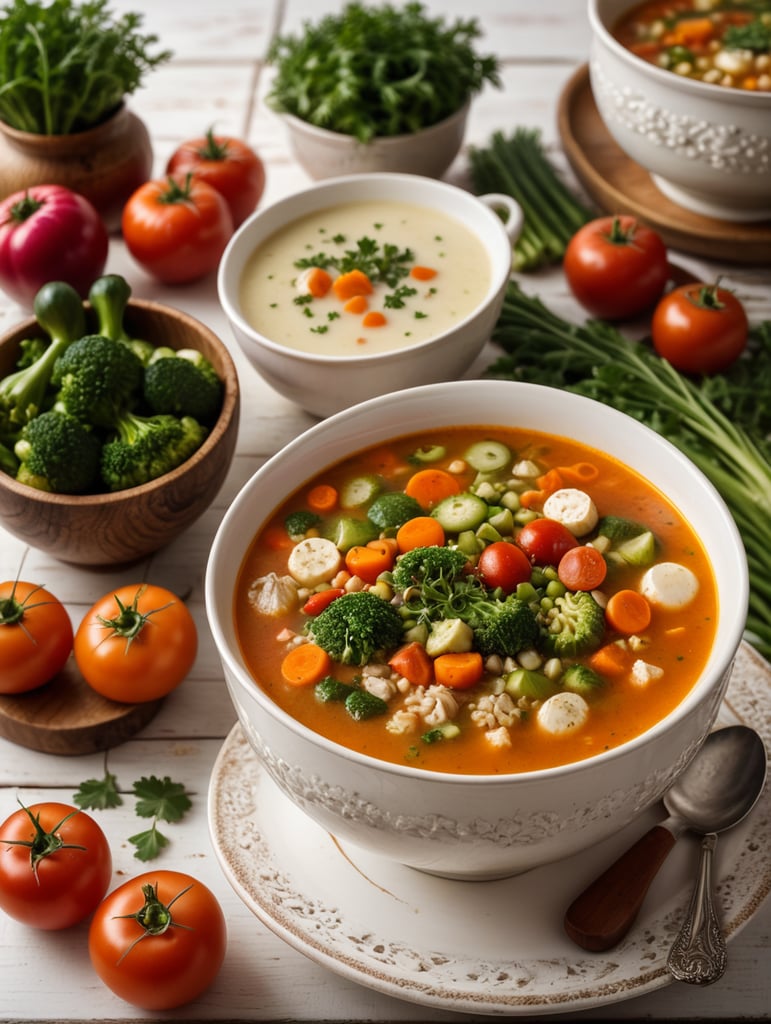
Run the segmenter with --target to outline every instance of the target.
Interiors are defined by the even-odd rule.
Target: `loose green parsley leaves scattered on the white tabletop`
[[[180,782],[173,782],[168,775],[163,778],[143,775],[133,783],[131,792],[137,798],[137,815],[153,820],[148,828],[130,836],[128,841],[136,847],[134,856],[137,860],[153,860],[169,845],[168,838],[158,827],[159,821],[180,821],[192,807],[192,802],[185,787]],[[102,778],[81,782],[78,792],[73,795],[73,802],[81,810],[120,807],[123,798],[118,790],[118,779],[105,768]]]

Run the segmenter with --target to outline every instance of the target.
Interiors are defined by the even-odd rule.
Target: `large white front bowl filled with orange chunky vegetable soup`
[[[384,508],[393,515],[405,496],[423,511],[402,509],[414,518],[393,528]],[[437,521],[443,545],[427,540]],[[362,523],[377,528],[358,535]],[[385,575],[361,567],[380,572],[394,543]],[[563,544],[601,553],[604,582],[563,585],[550,567],[561,573]],[[429,571],[428,550],[453,567]],[[490,550],[501,561],[485,560]],[[479,621],[469,637],[453,621],[473,617],[442,604],[447,586],[462,604],[471,589],[473,604],[480,574],[485,607],[518,599],[514,639]],[[343,843],[474,880],[584,850],[662,796],[714,724],[747,586],[726,506],[668,441],[583,396],[473,380],[371,399],[270,459],[217,532],[206,606],[241,727],[288,800]],[[647,623],[611,616],[616,593],[623,608],[647,604]],[[378,599],[373,656],[357,616]],[[421,630],[431,602],[449,628]],[[334,656],[317,663],[323,644]],[[376,714],[357,718],[369,706]]]

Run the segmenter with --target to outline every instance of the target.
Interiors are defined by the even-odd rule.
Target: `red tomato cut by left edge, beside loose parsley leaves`
[[[0,907],[25,925],[47,931],[77,925],[98,905],[112,877],[104,833],[77,807],[33,804],[0,825]]]

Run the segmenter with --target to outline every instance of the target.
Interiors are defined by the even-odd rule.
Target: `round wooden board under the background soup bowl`
[[[771,265],[771,221],[735,223],[686,210],[659,191],[650,174],[620,150],[597,110],[587,65],[562,91],[557,127],[575,176],[606,213],[639,217],[682,252]]]

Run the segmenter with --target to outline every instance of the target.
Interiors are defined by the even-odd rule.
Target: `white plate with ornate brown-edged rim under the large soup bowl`
[[[771,748],[771,669],[746,644],[717,726],[737,722]],[[525,874],[457,882],[338,842],[280,792],[239,725],[209,790],[210,830],[225,877],[290,946],[387,995],[510,1017],[589,1010],[670,983],[667,955],[695,878],[695,837],[676,844],[614,949],[588,953],[562,931],[572,898],[663,816],[660,806],[650,809],[592,850]],[[714,884],[730,943],[771,892],[771,786],[721,836]]]

